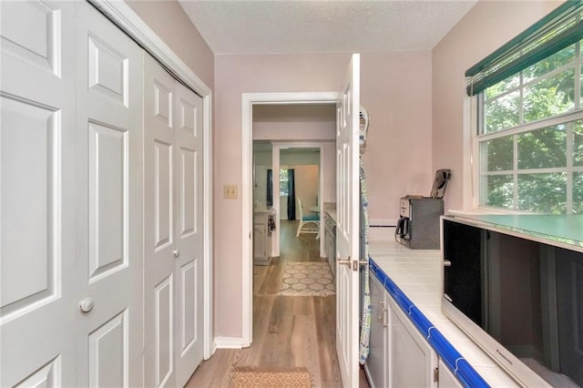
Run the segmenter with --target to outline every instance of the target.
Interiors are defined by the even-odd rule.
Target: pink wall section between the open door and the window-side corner
[[[369,113],[363,163],[371,220],[398,218],[405,194],[429,195],[431,53],[362,55],[361,104]]]

